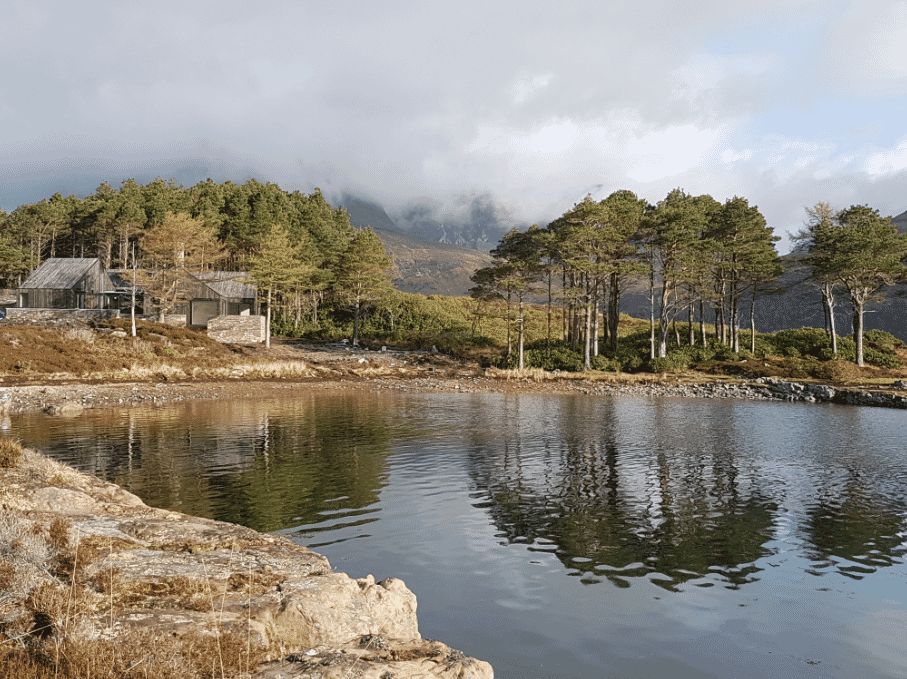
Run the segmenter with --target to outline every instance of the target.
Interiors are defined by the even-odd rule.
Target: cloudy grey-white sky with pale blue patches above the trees
[[[586,195],[907,210],[907,0],[41,2],[0,17],[0,206],[174,177],[393,217]]]

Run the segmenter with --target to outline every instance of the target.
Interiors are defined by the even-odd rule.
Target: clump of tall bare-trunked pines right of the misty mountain
[[[687,344],[697,343],[697,311],[698,342],[706,342],[706,304],[715,311],[719,341],[736,353],[744,299],[749,298],[752,325],[761,287],[781,273],[777,240],[744,198],[722,205],[711,196],[675,189],[657,205],[648,205],[630,191],[616,191],[599,202],[587,197],[545,229],[533,226],[507,234],[492,250],[492,265],[473,277],[472,295],[478,301],[504,299],[508,310],[515,298],[521,328],[524,296],[544,290],[549,315],[553,301],[560,301],[565,319],[561,337],[582,353],[589,370],[599,356],[619,357],[621,294],[631,279],[643,278],[649,282],[651,305],[650,361],[668,358],[669,335],[684,311]],[[555,339],[550,324],[546,339]],[[680,344],[679,336],[675,343]],[[516,363],[524,365],[522,348]]]

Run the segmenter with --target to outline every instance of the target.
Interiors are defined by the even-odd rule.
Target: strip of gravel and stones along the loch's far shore
[[[624,394],[688,398],[737,398],[829,402],[907,409],[903,389],[865,390],[803,384],[773,378],[740,380],[707,376],[621,375],[578,378],[561,374],[515,376],[485,370],[478,364],[425,351],[365,349],[337,345],[279,348],[275,360],[305,361],[312,377],[255,379],[242,367],[217,381],[80,382],[77,379],[31,383],[0,382],[0,410],[8,414],[44,411],[76,415],[86,408],[172,403],[188,399],[223,399],[291,395],[301,390],[402,392],[526,392],[550,394]],[[699,378],[699,379],[697,379]]]

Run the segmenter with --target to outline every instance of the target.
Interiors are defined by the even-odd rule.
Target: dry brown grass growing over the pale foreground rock
[[[92,616],[112,616],[114,605],[211,611],[218,600],[210,583],[190,578],[126,583],[111,569],[85,581],[84,567],[104,553],[64,519],[41,525],[0,512],[0,677],[226,679],[249,676],[266,659],[247,634],[219,627],[175,636],[118,624],[111,636],[111,624],[99,637]],[[224,587],[251,596],[273,586],[257,575],[233,574]]]

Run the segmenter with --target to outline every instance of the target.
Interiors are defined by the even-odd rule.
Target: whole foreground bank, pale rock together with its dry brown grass
[[[0,676],[490,679],[400,580],[145,505],[0,439]]]

